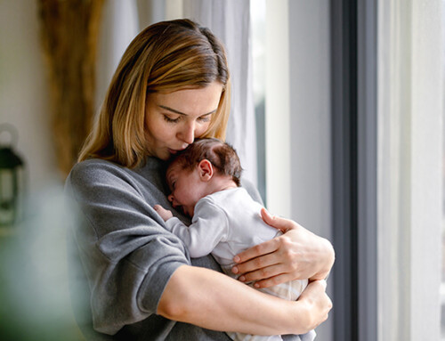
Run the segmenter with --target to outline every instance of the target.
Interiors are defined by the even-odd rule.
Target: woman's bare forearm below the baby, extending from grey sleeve
[[[182,265],[166,285],[158,314],[206,329],[303,334],[321,322],[309,305],[263,294],[219,272]]]

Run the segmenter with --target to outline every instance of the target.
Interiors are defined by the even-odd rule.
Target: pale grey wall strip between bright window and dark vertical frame
[[[332,240],[329,3],[289,1],[290,205],[292,219]],[[332,329],[331,313],[317,339]]]

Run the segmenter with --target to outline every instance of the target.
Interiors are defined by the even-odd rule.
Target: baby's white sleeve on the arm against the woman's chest
[[[210,254],[219,242],[227,240],[229,233],[225,212],[207,198],[198,201],[190,226],[176,217],[168,219],[166,226],[182,240],[194,258]]]

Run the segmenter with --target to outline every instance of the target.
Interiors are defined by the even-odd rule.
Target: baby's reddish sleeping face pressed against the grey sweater
[[[193,216],[196,203],[206,196],[204,194],[206,183],[200,180],[198,167],[190,171],[174,163],[167,169],[166,182],[171,191],[168,200],[173,207],[182,207],[186,215]]]

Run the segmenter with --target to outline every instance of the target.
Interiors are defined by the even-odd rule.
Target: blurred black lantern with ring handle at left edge
[[[12,150],[17,143],[16,129],[9,124],[0,125],[0,135],[9,134],[9,143],[0,141],[0,226],[17,222],[23,192],[23,160]]]

